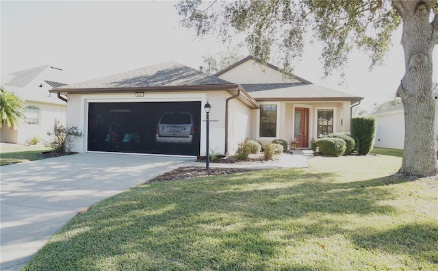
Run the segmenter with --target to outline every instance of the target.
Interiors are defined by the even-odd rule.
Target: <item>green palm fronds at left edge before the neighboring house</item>
[[[0,128],[18,126],[25,118],[25,103],[22,99],[0,86]]]

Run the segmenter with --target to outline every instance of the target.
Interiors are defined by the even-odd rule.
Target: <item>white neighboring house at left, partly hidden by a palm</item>
[[[53,66],[38,66],[16,73],[2,75],[1,85],[25,101],[26,119],[18,127],[3,125],[0,141],[27,143],[32,137],[48,140],[47,131],[53,131],[55,120],[66,124],[66,102],[51,94],[52,88],[64,86],[64,70]]]

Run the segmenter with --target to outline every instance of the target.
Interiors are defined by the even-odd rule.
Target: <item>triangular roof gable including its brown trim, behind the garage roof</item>
[[[249,55],[243,60],[224,68],[215,74],[217,77],[233,83],[311,83],[296,75],[285,75],[279,67],[257,62]]]

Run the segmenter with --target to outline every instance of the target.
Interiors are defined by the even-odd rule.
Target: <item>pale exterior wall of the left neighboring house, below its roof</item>
[[[44,143],[50,140],[47,132],[53,131],[55,120],[58,120],[64,126],[66,125],[67,106],[65,104],[27,101],[25,106],[35,106],[40,109],[40,124],[27,125],[23,122],[21,126],[15,129],[3,127],[0,135],[1,142],[27,144],[30,138],[37,136],[41,138],[41,143]]]

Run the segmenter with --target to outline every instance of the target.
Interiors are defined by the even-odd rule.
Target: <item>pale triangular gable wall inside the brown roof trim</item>
[[[268,66],[261,66],[254,60],[248,60],[239,66],[220,75],[221,79],[243,83],[290,83],[290,79],[283,78],[283,74]],[[295,80],[295,82],[298,82]]]

